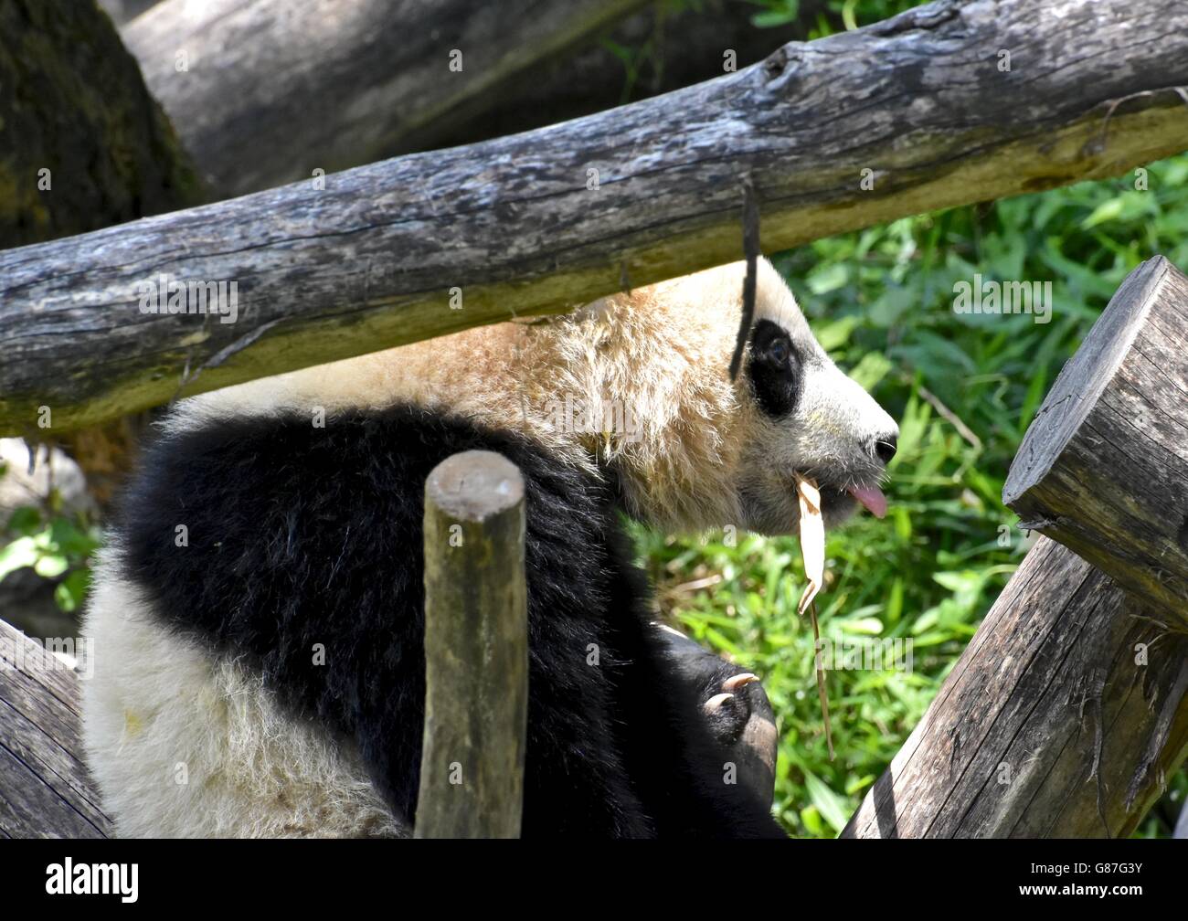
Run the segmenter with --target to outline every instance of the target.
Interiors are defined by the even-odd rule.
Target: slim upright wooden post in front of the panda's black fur
[[[524,480],[492,452],[425,481],[425,732],[417,838],[518,838],[527,720]]]

